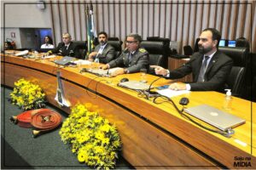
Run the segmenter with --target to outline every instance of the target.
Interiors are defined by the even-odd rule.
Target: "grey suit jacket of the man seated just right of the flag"
[[[100,48],[101,44],[97,45],[94,51],[98,52]],[[107,44],[106,47],[103,49],[102,54],[98,54],[97,58],[100,59],[100,63],[109,63],[111,60],[115,58],[114,48],[110,44]]]

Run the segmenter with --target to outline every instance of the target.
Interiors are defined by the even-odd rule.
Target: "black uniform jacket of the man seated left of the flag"
[[[73,42],[70,42],[68,48],[65,47],[64,42],[60,42],[57,48],[51,50],[53,54],[59,54],[63,56],[70,56],[80,59],[82,56],[79,53],[79,48],[77,48]]]

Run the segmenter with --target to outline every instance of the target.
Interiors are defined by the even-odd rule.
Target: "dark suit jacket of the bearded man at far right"
[[[191,56],[188,63],[177,68],[174,71],[170,71],[170,77],[172,79],[182,78],[192,72],[193,82],[189,83],[191,90],[195,91],[211,91],[222,90],[224,83],[227,80],[233,60],[220,51],[217,51],[207,66],[205,73],[205,82],[197,82],[199,71],[201,69],[203,54],[195,53]]]

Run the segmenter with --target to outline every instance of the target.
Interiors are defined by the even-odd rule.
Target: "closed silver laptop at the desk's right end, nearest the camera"
[[[196,118],[201,119],[202,121],[207,122],[213,127],[217,127],[223,131],[246,122],[244,119],[241,119],[238,116],[220,111],[210,105],[198,105],[184,109],[184,111],[189,113],[189,115],[195,116]]]

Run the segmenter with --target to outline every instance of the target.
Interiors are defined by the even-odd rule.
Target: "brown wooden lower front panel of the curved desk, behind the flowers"
[[[3,67],[3,65],[2,65]],[[19,65],[5,64],[5,85],[13,87],[14,82],[21,77],[37,82],[47,94],[47,99],[52,105],[58,106],[55,102],[56,77],[40,71],[20,67]],[[3,72],[2,72],[3,73]],[[8,78],[7,78],[8,77]],[[65,96],[71,104],[90,102],[103,109],[101,115],[114,123],[119,130],[123,143],[123,156],[135,167],[175,167],[175,166],[196,166],[213,167],[212,162],[189,149],[177,139],[160,131],[160,129],[134,116],[119,105],[109,102],[107,99],[95,94],[88,95],[84,88],[73,83],[62,81]],[[72,97],[71,97],[72,96]],[[61,108],[63,111],[67,109]],[[154,154],[152,154],[154,153]]]

